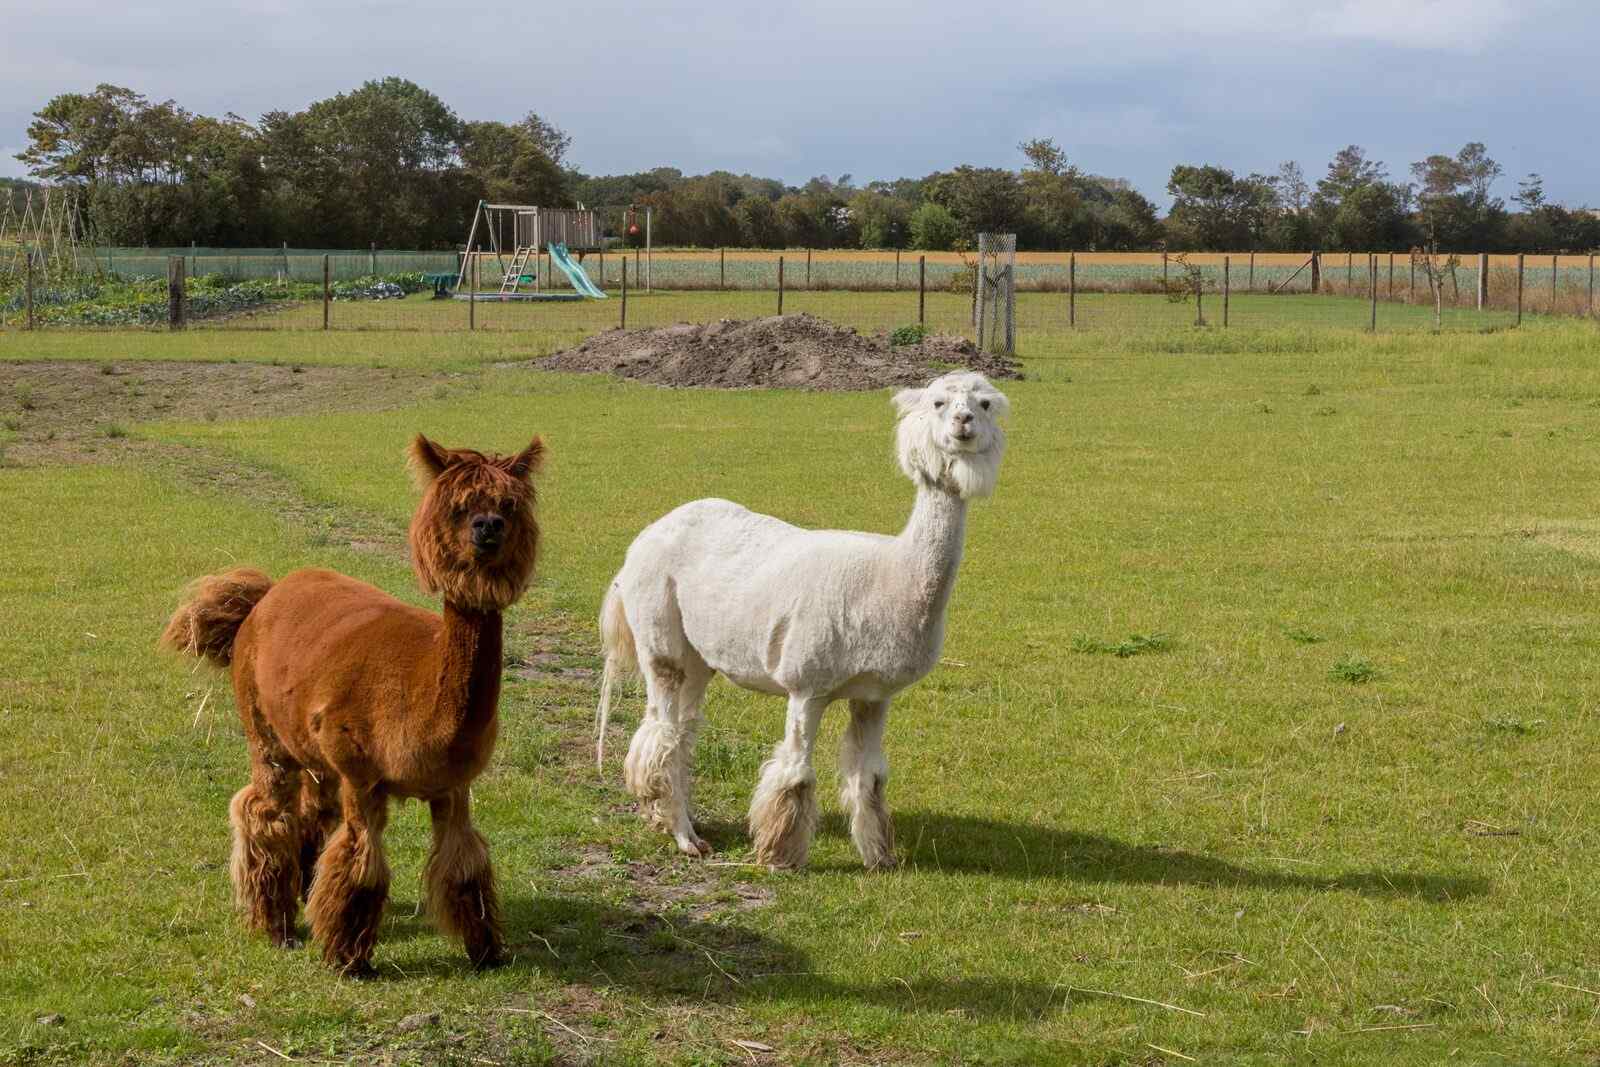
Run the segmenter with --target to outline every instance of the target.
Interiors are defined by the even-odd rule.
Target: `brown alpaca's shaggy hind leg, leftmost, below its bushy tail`
[[[234,825],[234,901],[251,929],[283,945],[294,941],[301,896],[299,768],[280,757],[251,744],[250,785],[234,793],[227,814]]]

